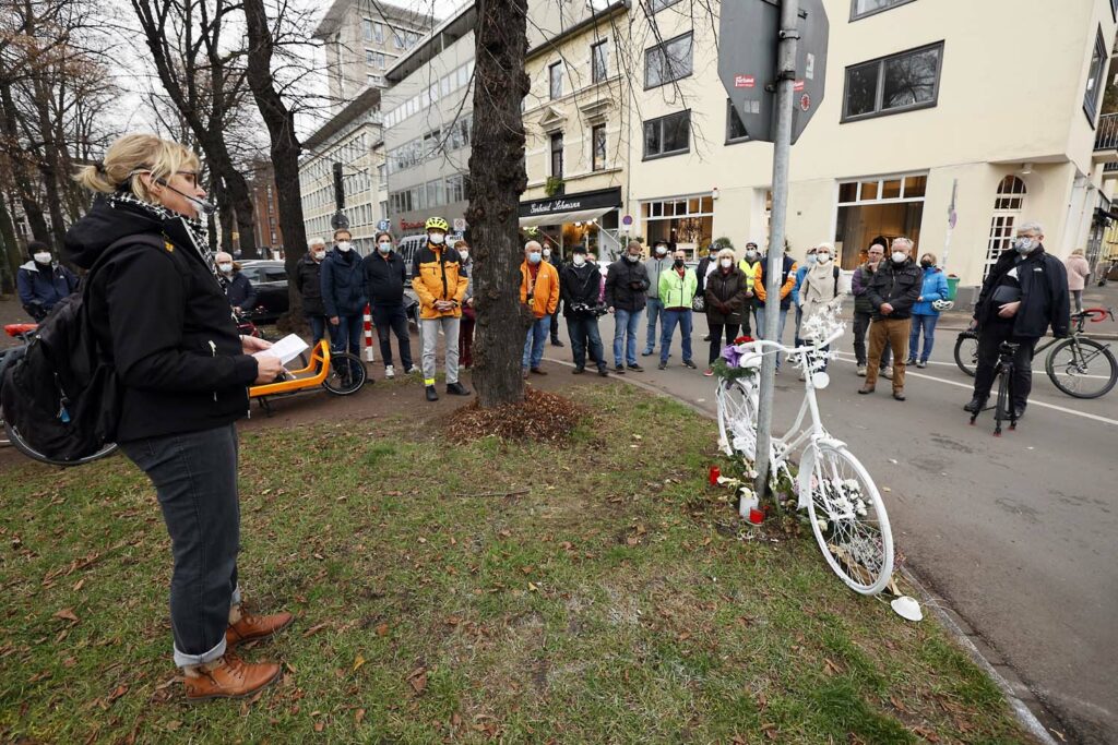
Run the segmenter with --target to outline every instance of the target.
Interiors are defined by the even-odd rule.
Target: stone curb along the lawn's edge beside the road
[[[963,329],[960,328],[959,331]],[[1118,335],[1116,335],[1116,338],[1118,338]],[[572,362],[567,362],[566,360],[556,360],[547,355],[543,359],[563,367],[575,366]],[[619,375],[614,375],[613,371],[610,371],[609,376],[619,383],[633,385],[656,395],[669,395],[663,389],[636,378],[623,379]],[[707,419],[714,419],[713,414],[703,410],[698,403],[675,398],[672,400],[682,403]],[[1005,696],[1006,701],[1010,704],[1010,708],[1013,709],[1013,715],[1025,727],[1029,734],[1044,745],[1059,745],[1055,738],[1049,734],[1049,728],[1040,720],[1035,711],[1039,711],[1041,716],[1053,723],[1058,722],[1057,717],[1032,695],[1029,686],[1017,677],[1017,674],[1004,660],[995,657],[996,652],[970,628],[966,620],[948,608],[941,599],[936,598],[908,567],[902,566],[900,574],[904,577],[906,582],[916,589],[925,606],[931,609],[939,622],[944,624],[944,628],[955,638],[975,665],[982,668],[983,672],[989,676],[997,685],[1002,695]],[[991,658],[993,658],[993,661]]]

